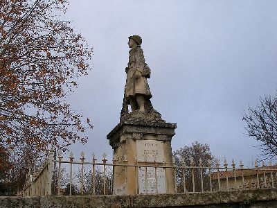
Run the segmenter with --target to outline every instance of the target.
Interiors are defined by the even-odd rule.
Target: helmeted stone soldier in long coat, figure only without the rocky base
[[[125,85],[125,101],[131,105],[132,112],[145,112],[145,107],[152,97],[147,78],[150,78],[150,68],[145,63],[142,39],[139,35],[129,37],[129,62],[126,67],[127,80]]]

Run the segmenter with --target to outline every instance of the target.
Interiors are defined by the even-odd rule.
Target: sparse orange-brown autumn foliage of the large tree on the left
[[[87,75],[91,49],[69,21],[64,0],[0,1],[0,144],[66,148],[87,141],[89,119],[66,96]]]

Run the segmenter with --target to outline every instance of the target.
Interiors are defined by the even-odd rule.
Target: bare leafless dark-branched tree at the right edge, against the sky
[[[249,107],[244,112],[243,121],[249,137],[260,142],[260,148],[268,158],[277,155],[277,97],[260,98],[256,108]]]

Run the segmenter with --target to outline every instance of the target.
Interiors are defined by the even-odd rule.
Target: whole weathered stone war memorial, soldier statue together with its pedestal
[[[175,135],[176,123],[166,123],[154,110],[152,94],[147,79],[150,68],[145,63],[142,39],[139,35],[129,37],[129,62],[120,123],[109,132],[107,139],[114,149],[114,158],[128,164],[168,164],[172,166],[171,139]],[[128,111],[130,105],[132,112]],[[154,167],[114,168],[114,194],[174,193],[172,170]],[[155,176],[155,171],[157,171]],[[146,176],[145,176],[146,174]],[[134,175],[135,177],[128,177]],[[148,183],[145,178],[147,177]]]

